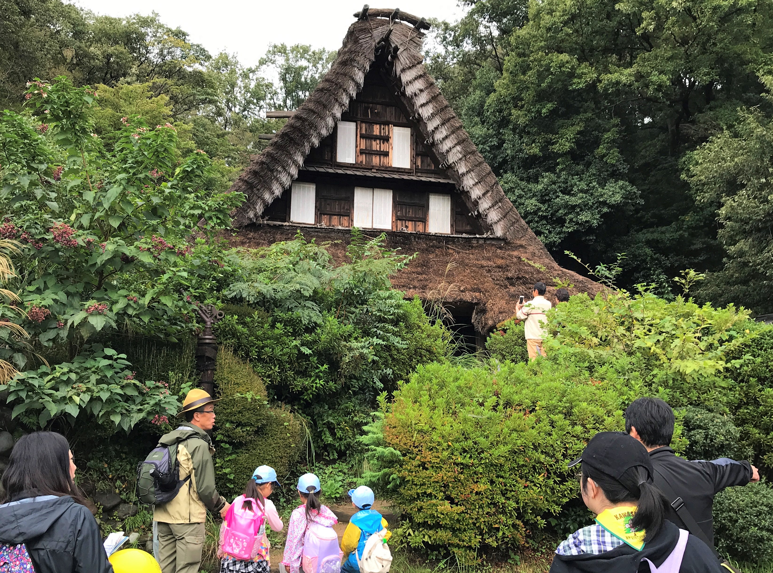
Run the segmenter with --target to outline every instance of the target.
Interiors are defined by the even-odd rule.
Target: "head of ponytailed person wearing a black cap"
[[[652,482],[652,462],[639,442],[621,431],[600,431],[570,467],[577,463],[582,463],[580,490],[589,510],[598,515],[636,506],[632,529],[645,530],[644,541],[658,534],[666,519],[666,501]]]

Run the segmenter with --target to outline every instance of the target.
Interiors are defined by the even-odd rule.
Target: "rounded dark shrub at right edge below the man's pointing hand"
[[[717,549],[738,561],[773,560],[773,488],[750,483],[728,487],[714,498]]]

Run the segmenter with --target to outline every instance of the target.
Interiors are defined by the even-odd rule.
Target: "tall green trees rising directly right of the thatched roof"
[[[739,107],[767,113],[771,4],[468,3],[435,36],[431,65],[554,254],[625,251],[627,284],[661,292],[679,269],[720,270],[718,198],[696,202],[682,161],[744,121]]]

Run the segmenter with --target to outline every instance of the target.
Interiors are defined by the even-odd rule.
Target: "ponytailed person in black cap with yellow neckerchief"
[[[596,523],[571,534],[550,573],[720,573],[707,544],[666,521],[666,500],[652,483],[645,447],[621,431],[601,431],[580,458],[580,489]]]

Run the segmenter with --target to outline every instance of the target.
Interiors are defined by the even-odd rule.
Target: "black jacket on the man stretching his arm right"
[[[714,496],[728,486],[745,486],[751,479],[751,464],[736,462],[729,458],[715,459],[711,462],[690,462],[679,458],[669,447],[649,452],[652,467],[655,469],[655,485],[662,491],[667,483],[681,497],[685,507],[692,514],[706,538],[713,544],[714,524],[711,517]],[[666,494],[666,497],[669,497]],[[669,499],[669,504],[673,500]],[[687,526],[670,505],[666,507],[666,519],[679,527]]]

